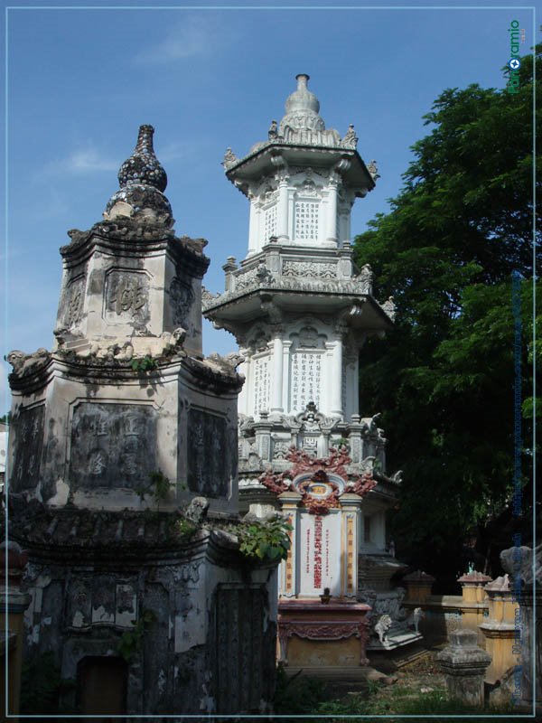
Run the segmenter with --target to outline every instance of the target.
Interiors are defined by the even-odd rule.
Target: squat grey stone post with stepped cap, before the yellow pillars
[[[438,653],[444,672],[448,695],[468,706],[483,706],[483,679],[491,663],[491,655],[476,644],[478,635],[473,630],[454,630],[450,645]]]

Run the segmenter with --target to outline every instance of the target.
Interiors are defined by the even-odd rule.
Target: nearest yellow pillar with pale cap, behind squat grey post
[[[512,602],[509,576],[497,577],[485,586],[489,602],[489,615],[480,625],[485,637],[485,649],[491,655],[486,683],[493,685],[514,665],[514,619],[518,604]]]

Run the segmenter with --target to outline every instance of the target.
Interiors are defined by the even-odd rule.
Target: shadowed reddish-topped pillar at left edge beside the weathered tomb
[[[0,584],[0,625],[6,631],[5,646],[7,648],[7,670],[2,676],[2,692],[0,694],[1,714],[4,716],[5,690],[7,690],[7,712],[10,720],[15,723],[19,719],[19,699],[21,696],[21,666],[23,664],[23,617],[24,611],[30,605],[30,595],[20,590],[23,568],[26,565],[26,554],[16,542],[3,542],[0,545],[0,555],[5,559],[5,548],[7,547],[7,582],[2,577]],[[7,620],[5,614],[7,613]],[[3,663],[5,652],[2,653]],[[0,670],[4,665],[0,666]],[[14,718],[12,718],[14,716]],[[4,718],[2,718],[4,720]]]

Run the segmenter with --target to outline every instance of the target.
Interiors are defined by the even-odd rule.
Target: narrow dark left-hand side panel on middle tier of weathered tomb
[[[43,405],[21,409],[12,422],[14,458],[10,480],[13,492],[35,487],[40,480],[43,449]]]

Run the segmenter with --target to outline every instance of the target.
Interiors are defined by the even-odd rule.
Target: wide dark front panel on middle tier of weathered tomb
[[[71,423],[70,481],[76,488],[129,487],[156,469],[156,414],[135,404],[83,402]]]

